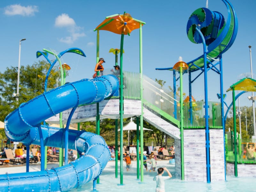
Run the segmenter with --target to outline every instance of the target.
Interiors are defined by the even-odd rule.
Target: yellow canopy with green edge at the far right
[[[256,91],[256,80],[245,77],[245,78],[241,79],[240,81],[236,82],[235,84],[231,85],[230,88],[228,88],[227,92],[232,91],[233,88],[235,90],[239,90],[239,91],[255,92]]]

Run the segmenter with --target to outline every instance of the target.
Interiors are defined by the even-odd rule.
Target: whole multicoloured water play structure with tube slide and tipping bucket
[[[62,66],[60,57],[66,52],[85,57],[84,52],[78,48],[71,48],[60,54],[46,49],[43,49],[43,52],[38,51],[37,57],[44,56],[51,67],[59,62],[61,86],[47,92],[47,83],[45,83],[45,92],[42,95],[21,104],[5,118],[5,133],[8,139],[24,143],[28,153],[29,145],[37,144],[41,145],[41,151],[44,151],[45,146],[55,146],[77,150],[81,156],[68,164],[68,150],[65,150],[64,166],[44,170],[45,156],[42,152],[40,172],[29,172],[28,159],[26,173],[0,175],[0,187],[4,189],[3,191],[20,190],[20,188],[24,191],[67,191],[78,188],[90,180],[93,180],[93,189],[96,190],[96,182],[99,183],[99,176],[110,157],[108,146],[99,135],[100,119],[120,119],[120,154],[122,154],[123,118],[133,116],[137,117],[137,146],[140,143],[141,155],[143,129],[140,129],[139,137],[139,124],[143,127],[144,119],[175,139],[176,178],[207,182],[226,180],[222,54],[234,43],[238,26],[234,8],[228,0],[222,2],[228,10],[227,21],[221,13],[207,8],[197,9],[188,20],[188,38],[193,43],[203,44],[203,54],[189,62],[180,60],[172,68],[157,68],[157,70],[173,71],[172,96],[168,90],[159,87],[147,76],[143,76],[142,26],[146,23],[133,19],[130,14],[108,16],[95,28],[96,61],[99,60],[100,55],[99,31],[108,30],[121,35],[120,76],[114,76],[111,71],[104,70],[104,76],[98,74],[93,79],[65,84],[66,66]],[[140,73],[123,71],[124,35],[130,35],[133,29],[140,29]],[[54,62],[48,59],[48,53],[56,57]],[[209,71],[220,75],[220,102],[208,102]],[[176,73],[180,74],[177,79]],[[176,81],[180,80],[180,95],[182,95],[182,75],[186,73],[189,76],[189,98],[188,102],[183,102],[182,98],[177,98]],[[196,73],[197,75],[192,79],[192,74]],[[48,75],[49,73],[47,77]],[[193,101],[192,83],[200,75],[204,75],[205,98],[204,101]],[[161,104],[163,102],[165,105]],[[35,108],[41,110],[35,113],[33,110]],[[68,130],[70,123],[92,120],[96,120],[96,134]],[[41,124],[42,122],[44,124]],[[60,128],[48,126],[46,123],[60,123]],[[66,124],[66,127],[62,128],[62,124]],[[139,155],[139,148],[137,154]],[[143,159],[141,158],[141,172],[139,158],[137,161],[137,178],[143,182]],[[60,156],[60,165],[62,164],[63,159],[61,160]],[[120,161],[120,184],[123,184],[122,171],[123,161]]]

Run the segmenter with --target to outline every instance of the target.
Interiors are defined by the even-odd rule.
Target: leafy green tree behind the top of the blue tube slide
[[[18,108],[21,103],[35,98],[44,92],[44,81],[50,64],[46,61],[35,62],[33,65],[20,67],[20,90],[17,100],[17,77],[18,67],[7,67],[3,73],[0,73],[0,120]],[[60,78],[60,71],[57,66],[53,67],[48,78],[47,86],[57,87],[56,79]]]

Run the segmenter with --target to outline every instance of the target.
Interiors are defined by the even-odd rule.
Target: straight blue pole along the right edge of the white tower
[[[226,150],[225,150],[225,122],[224,122],[224,96],[223,96],[223,69],[222,69],[222,54],[220,55],[220,105],[221,105],[221,124],[223,129],[223,144],[224,144],[224,170],[226,180]]]

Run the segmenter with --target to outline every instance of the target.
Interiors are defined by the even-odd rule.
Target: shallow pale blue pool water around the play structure
[[[156,181],[153,181],[156,172],[146,172],[144,168],[144,181],[141,182],[137,180],[136,174],[136,161],[132,161],[132,166],[130,171],[126,171],[125,162],[123,164],[123,185],[120,185],[120,173],[118,172],[118,178],[115,178],[115,161],[109,161],[106,168],[100,175],[100,184],[97,184],[97,191],[102,192],[154,192],[156,189]],[[256,191],[255,185],[255,175],[252,177],[239,178],[235,176],[227,176],[226,181],[213,181],[211,183],[207,182],[196,182],[196,181],[182,181],[180,179],[175,179],[175,167],[174,163],[169,163],[169,161],[157,161],[157,167],[166,167],[173,175],[171,179],[165,180],[165,191],[197,191],[197,192],[253,192]],[[148,170],[150,164],[148,164]],[[120,169],[120,164],[118,164],[118,169]],[[119,170],[118,170],[119,171]],[[164,175],[167,175],[165,172]],[[71,190],[91,192],[92,181],[89,183]]]

